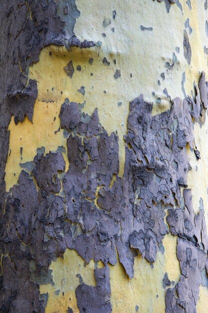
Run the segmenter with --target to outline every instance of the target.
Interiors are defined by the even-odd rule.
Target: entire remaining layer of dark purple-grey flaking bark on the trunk
[[[180,5],[178,0],[165,0],[167,11],[174,2]],[[187,5],[191,8],[190,1]],[[63,147],[46,155],[44,147],[39,147],[34,159],[22,164],[18,183],[5,193],[8,123],[11,115],[15,123],[25,115],[32,120],[37,97],[37,83],[28,80],[28,66],[37,62],[40,49],[51,43],[66,48],[94,46],[92,41],[80,42],[74,36],[78,15],[74,0],[1,3],[0,312],[44,312],[47,294],[39,295],[39,285],[53,284],[49,265],[66,248],[75,249],[86,263],[92,258],[104,263],[94,271],[95,287],[80,278],[75,291],[80,312],[111,312],[107,263],[116,263],[116,250],[132,278],[137,252],[153,263],[169,231],[178,236],[181,276],[166,291],[166,312],[195,312],[201,271],[207,267],[208,238],[204,212],[201,209],[194,214],[187,188],[190,165],[186,146],[195,148],[193,125],[202,124],[205,118],[207,82],[203,72],[195,98],[177,97],[171,108],[160,114],[152,116],[152,103],[145,102],[142,95],[129,99],[122,177],[118,176],[117,135],[102,127],[97,109],[90,116],[66,98],[59,118],[67,142],[68,170]],[[186,30],[183,46],[190,64]],[[102,62],[109,65],[106,58]],[[72,61],[63,70],[71,78]],[[114,78],[119,76],[120,70],[116,70]],[[197,149],[195,155],[199,159]],[[169,230],[164,222],[166,209]],[[162,283],[164,288],[170,286],[167,275]]]

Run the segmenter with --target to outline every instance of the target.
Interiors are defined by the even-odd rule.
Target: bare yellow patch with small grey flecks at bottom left
[[[83,282],[95,286],[94,261],[86,264],[75,250],[66,249],[63,258],[58,257],[49,267],[54,285],[40,285],[40,293],[48,292],[45,313],[65,313],[70,307],[78,313],[75,289],[79,285],[79,274]]]

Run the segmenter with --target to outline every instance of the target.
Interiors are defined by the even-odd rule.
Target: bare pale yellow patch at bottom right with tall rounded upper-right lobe
[[[162,278],[167,272],[169,280],[177,282],[180,277],[179,262],[176,257],[176,237],[168,234],[162,244],[164,254],[158,252],[153,268],[141,255],[134,258],[134,277],[130,279],[118,261],[110,266],[110,286],[112,313],[164,312],[165,292]]]

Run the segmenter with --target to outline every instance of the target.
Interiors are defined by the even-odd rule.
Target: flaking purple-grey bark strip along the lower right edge
[[[170,231],[178,235],[177,258],[181,276],[174,288],[167,289],[166,313],[196,312],[202,270],[206,265],[207,230],[204,212],[194,215],[191,190],[183,190],[184,208],[171,209],[167,216]],[[205,274],[205,273],[204,273]]]

